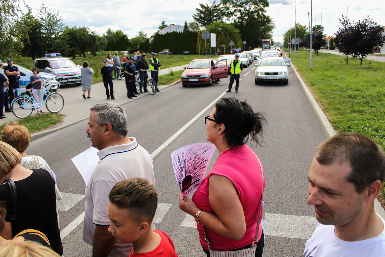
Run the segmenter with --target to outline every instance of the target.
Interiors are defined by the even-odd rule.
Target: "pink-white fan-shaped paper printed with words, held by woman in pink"
[[[189,195],[201,185],[215,149],[214,144],[198,143],[171,153],[172,168],[181,192]]]

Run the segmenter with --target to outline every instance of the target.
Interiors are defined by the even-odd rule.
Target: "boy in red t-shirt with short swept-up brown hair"
[[[152,230],[158,197],[154,185],[145,178],[129,178],[118,182],[110,191],[108,231],[119,244],[132,243],[131,257],[177,257],[169,236]]]

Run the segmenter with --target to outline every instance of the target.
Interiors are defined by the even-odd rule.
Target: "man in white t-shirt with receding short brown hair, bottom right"
[[[368,136],[340,133],[321,143],[307,200],[319,223],[303,257],[384,256],[384,220],[373,204],[384,177],[385,154]]]

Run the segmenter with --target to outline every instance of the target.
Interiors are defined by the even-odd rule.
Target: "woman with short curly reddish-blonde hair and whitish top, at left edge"
[[[59,189],[56,186],[56,176],[54,171],[51,170],[47,162],[40,156],[37,155],[26,155],[25,150],[29,146],[31,134],[28,129],[19,125],[17,121],[12,121],[5,125],[1,131],[2,141],[15,148],[22,156],[20,165],[26,169],[44,169],[50,173],[52,178],[55,180],[55,193],[56,200],[62,200],[63,197],[60,194]]]

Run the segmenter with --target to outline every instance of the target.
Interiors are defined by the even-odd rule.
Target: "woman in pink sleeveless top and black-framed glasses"
[[[249,138],[261,143],[266,119],[261,113],[254,113],[245,101],[222,98],[205,122],[207,140],[216,146],[219,157],[191,199],[179,196],[179,208],[197,221],[201,245],[209,256],[203,226],[214,250],[245,249],[254,240],[262,219],[261,213],[257,220],[265,186],[264,171],[245,143]],[[263,247],[264,235],[259,226],[255,256],[262,256]]]

